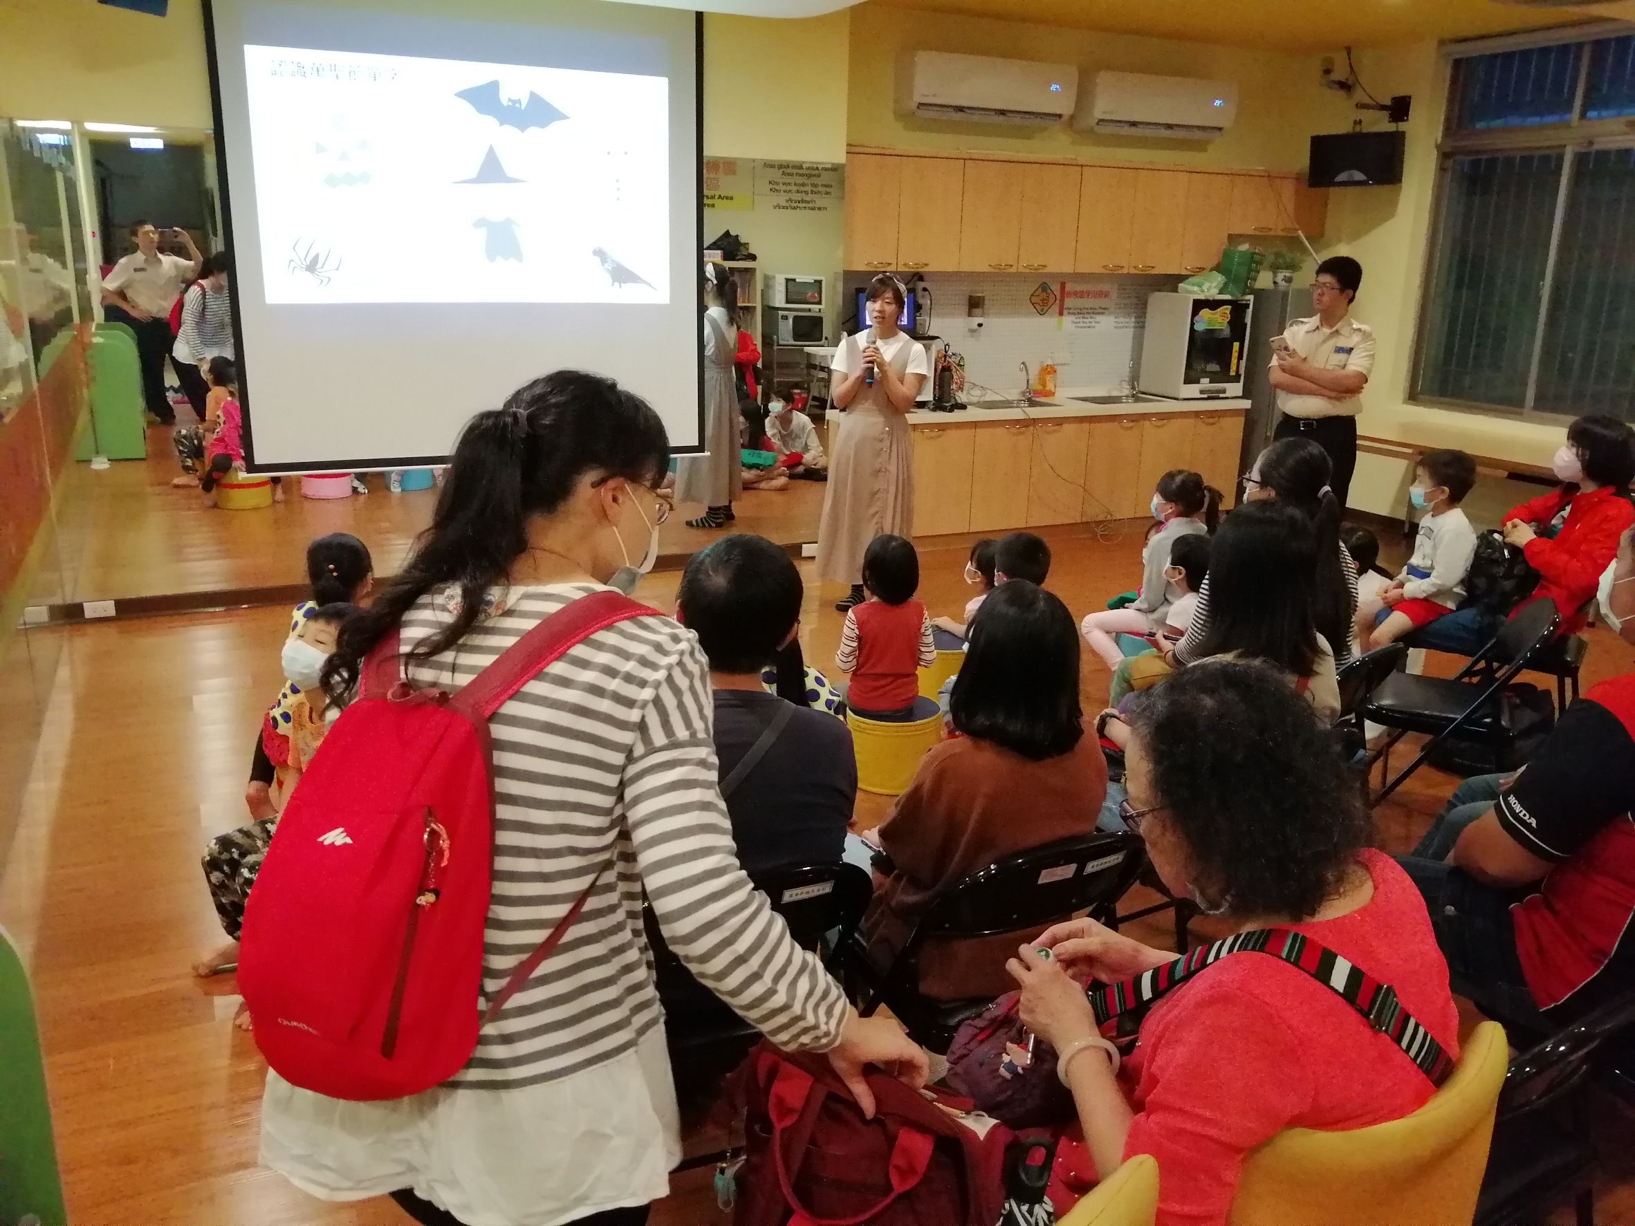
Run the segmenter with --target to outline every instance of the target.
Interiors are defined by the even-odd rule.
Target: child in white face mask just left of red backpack
[[[312,762],[324,734],[340,714],[330,703],[324,687],[319,685],[324,662],[335,651],[335,639],[342,623],[356,613],[356,605],[334,603],[314,610],[296,626],[294,634],[284,641],[280,660],[284,675],[299,691],[289,703],[288,754],[278,765],[270,791],[271,812],[253,817],[247,824],[227,834],[217,835],[204,848],[199,863],[204,868],[204,881],[209,886],[211,901],[216,904],[216,915],[227,933],[227,940],[208,955],[193,963],[193,973],[199,978],[219,974],[232,969],[239,960],[239,932],[244,928],[244,907],[250,899],[250,888],[255,875],[267,858],[267,848],[273,842],[273,830],[278,829],[278,814],[284,811],[289,794],[301,781],[302,772]],[[240,1030],[250,1028],[249,1013],[239,1009],[234,1025]]]

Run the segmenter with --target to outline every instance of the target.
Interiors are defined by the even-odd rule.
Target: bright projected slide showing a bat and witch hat
[[[244,65],[270,306],[670,302],[665,77],[255,44]]]

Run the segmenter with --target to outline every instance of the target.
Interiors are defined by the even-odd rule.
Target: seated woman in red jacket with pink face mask
[[[1601,575],[1619,553],[1619,538],[1635,525],[1635,430],[1604,414],[1579,417],[1550,459],[1561,484],[1550,494],[1504,512],[1506,544],[1517,546],[1539,572],[1529,600],[1545,597],[1561,615],[1561,634],[1589,620]],[[1522,602],[1527,603],[1527,602]],[[1498,629],[1488,610],[1472,605],[1411,634],[1409,647],[1475,656]]]

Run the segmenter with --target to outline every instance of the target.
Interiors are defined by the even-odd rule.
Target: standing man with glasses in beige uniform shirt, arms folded
[[[1328,451],[1334,464],[1329,485],[1346,510],[1351,474],[1357,468],[1359,399],[1373,369],[1373,330],[1351,317],[1362,284],[1362,265],[1334,255],[1318,265],[1311,304],[1318,314],[1297,319],[1283,332],[1287,348],[1272,361],[1279,420],[1275,438],[1301,435]]]

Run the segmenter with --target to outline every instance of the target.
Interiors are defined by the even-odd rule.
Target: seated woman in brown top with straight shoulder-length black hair
[[[1079,633],[1068,606],[1012,579],[983,602],[970,634],[953,683],[953,737],[925,755],[871,840],[891,861],[863,917],[878,968],[891,963],[925,907],[966,875],[1091,834],[1107,791],[1107,762],[1084,736]],[[1009,935],[929,942],[919,958],[921,992],[948,1000],[997,996],[1014,943]]]

